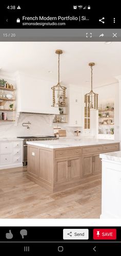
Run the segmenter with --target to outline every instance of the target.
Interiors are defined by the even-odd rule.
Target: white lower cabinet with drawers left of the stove
[[[0,141],[0,170],[23,166],[23,141]]]

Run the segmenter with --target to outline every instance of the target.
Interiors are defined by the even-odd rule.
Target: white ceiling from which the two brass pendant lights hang
[[[63,84],[90,86],[89,62],[96,64],[93,87],[114,83],[114,77],[121,75],[121,42],[0,42],[0,74],[19,70],[57,81],[56,49],[64,51],[60,56]]]

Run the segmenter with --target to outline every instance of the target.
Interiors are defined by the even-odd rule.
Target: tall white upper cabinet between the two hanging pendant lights
[[[70,85],[67,89],[69,126],[79,127],[82,124],[83,92],[79,86]]]

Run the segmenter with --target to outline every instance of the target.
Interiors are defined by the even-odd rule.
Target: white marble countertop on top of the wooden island
[[[110,144],[116,143],[116,140],[103,140],[103,139],[86,139],[86,138],[59,138],[58,140],[46,140],[46,141],[27,141],[29,145],[35,145],[38,147],[44,147],[49,149],[61,149],[70,147],[82,147],[88,145],[98,145],[98,144]]]

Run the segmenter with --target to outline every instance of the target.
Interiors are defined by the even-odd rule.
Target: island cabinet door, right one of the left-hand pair
[[[78,180],[82,176],[80,157],[69,158],[69,180]]]

